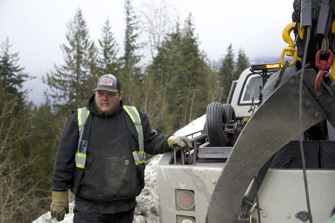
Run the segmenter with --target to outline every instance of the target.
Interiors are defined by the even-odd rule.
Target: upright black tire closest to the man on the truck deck
[[[220,102],[213,102],[207,106],[206,126],[211,146],[228,146],[229,139],[224,131],[227,123],[225,107]]]

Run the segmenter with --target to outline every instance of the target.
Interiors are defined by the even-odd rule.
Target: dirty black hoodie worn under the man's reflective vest
[[[131,148],[138,148],[138,134],[122,106],[121,101],[115,114],[104,116],[94,106],[94,94],[87,101],[86,107],[91,111],[92,124],[82,179],[76,179],[78,169],[75,164],[79,138],[78,112],[75,111],[65,124],[57,149],[52,183],[54,191],[64,191],[70,189],[74,181],[81,181],[76,194],[76,209],[93,212],[97,205],[136,205],[135,197],[141,192],[142,186],[136,176]],[[148,116],[139,109],[138,111],[143,126],[145,152],[156,155],[170,151],[168,136],[157,134],[150,127]],[[80,205],[83,201],[85,205]],[[90,203],[92,205],[87,205]],[[131,209],[135,205],[125,209]],[[85,206],[85,210],[81,206]],[[107,212],[125,211],[124,208],[112,209]]]

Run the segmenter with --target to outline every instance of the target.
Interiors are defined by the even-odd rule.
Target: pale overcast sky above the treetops
[[[153,0],[145,0],[153,1]],[[158,1],[158,0],[157,0]],[[243,49],[250,60],[279,57],[287,44],[282,40],[284,27],[292,22],[293,0],[166,0],[183,22],[192,13],[200,49],[210,60],[219,60],[232,43],[234,52]],[[80,7],[87,22],[90,37],[97,42],[101,28],[109,18],[120,46],[124,34],[123,0],[0,0],[0,42],[8,37],[11,53],[19,52],[20,65],[37,79],[30,99],[40,98],[45,86],[41,77],[63,64],[60,49],[66,43],[66,24]],[[133,1],[140,11],[144,0]]]

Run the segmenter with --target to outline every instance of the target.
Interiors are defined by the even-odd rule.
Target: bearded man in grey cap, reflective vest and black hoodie
[[[148,116],[123,105],[120,82],[99,78],[86,108],[66,122],[59,141],[50,207],[58,221],[69,213],[68,190],[75,194],[74,222],[132,222],[136,196],[144,187],[144,152],[192,147],[185,136],[160,135]]]

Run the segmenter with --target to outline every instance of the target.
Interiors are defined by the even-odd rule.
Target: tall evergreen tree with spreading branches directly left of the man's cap
[[[46,94],[51,97],[54,106],[70,111],[83,106],[92,93],[96,49],[89,39],[81,9],[77,10],[67,27],[66,40],[69,45],[61,45],[65,64],[55,64],[54,71],[47,73],[43,82],[49,86]]]

